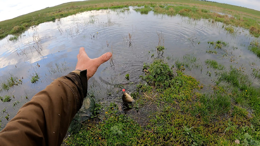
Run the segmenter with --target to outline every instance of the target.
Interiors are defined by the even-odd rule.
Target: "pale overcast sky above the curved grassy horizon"
[[[46,7],[53,7],[67,2],[84,0],[0,0],[0,21],[12,19],[24,14],[28,14]],[[219,3],[226,3],[242,6],[260,11],[260,0],[208,0]]]

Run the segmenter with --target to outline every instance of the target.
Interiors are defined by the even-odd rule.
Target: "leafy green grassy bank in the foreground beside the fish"
[[[65,142],[69,145],[235,145],[238,142],[259,145],[260,90],[251,87],[248,77],[239,69],[231,67],[223,71],[216,61],[207,62],[209,67],[220,71],[218,81],[207,93],[202,92],[204,87],[196,79],[183,74],[185,63],[181,61],[175,62],[174,66],[181,64],[177,68],[160,59],[145,64],[143,69],[148,71],[141,76],[144,83],[132,94],[136,99],[131,105],[134,114],[124,114],[117,104],[111,103],[104,107],[101,121],[96,118],[86,121]]]

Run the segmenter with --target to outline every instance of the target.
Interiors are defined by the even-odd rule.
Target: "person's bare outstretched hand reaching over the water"
[[[107,60],[109,60],[112,57],[111,52],[107,52],[103,55],[101,55],[98,58],[91,59],[85,52],[85,48],[80,48],[80,53],[77,55],[78,62],[76,65],[76,69],[79,70],[85,70],[87,69],[87,78],[91,78],[95,72],[97,71],[97,68]]]

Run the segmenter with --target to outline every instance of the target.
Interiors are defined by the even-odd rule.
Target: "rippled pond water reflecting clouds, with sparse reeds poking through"
[[[129,9],[90,11],[55,22],[43,23],[24,32],[17,41],[0,40],[0,82],[16,77],[22,84],[2,90],[0,96],[10,96],[10,102],[0,101],[2,127],[15,116],[19,108],[33,95],[49,85],[53,79],[67,75],[75,69],[80,47],[85,47],[89,57],[95,58],[111,51],[113,57],[102,64],[89,80],[89,92],[101,103],[120,103],[121,90],[135,92],[144,62],[164,58],[170,65],[176,59],[190,54],[197,57],[203,68],[186,69],[185,73],[205,86],[213,84],[205,60],[214,59],[229,68],[241,67],[251,75],[260,65],[259,58],[248,50],[254,37],[247,30],[234,28],[235,33],[225,30],[226,25],[208,20],[191,20],[186,17],[166,15],[141,15]],[[224,41],[228,46],[214,49],[208,41]],[[156,46],[164,45],[163,55]],[[206,53],[216,50],[218,54]],[[31,78],[39,76],[32,84]],[[129,80],[125,75],[129,74]],[[258,80],[251,77],[258,86]],[[1,87],[2,88],[2,87]]]

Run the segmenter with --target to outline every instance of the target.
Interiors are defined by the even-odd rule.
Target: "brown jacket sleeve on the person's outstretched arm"
[[[0,145],[60,145],[87,92],[81,79],[71,72],[37,93],[0,132]]]

